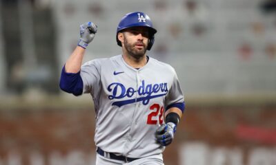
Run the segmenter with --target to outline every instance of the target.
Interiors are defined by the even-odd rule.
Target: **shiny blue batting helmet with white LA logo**
[[[117,27],[117,34],[116,34],[117,44],[121,46],[121,41],[119,41],[118,39],[119,32],[121,32],[122,30],[125,30],[126,28],[137,27],[137,26],[144,26],[148,28],[149,40],[148,40],[147,50],[150,50],[153,43],[155,42],[155,33],[157,32],[157,30],[153,28],[150,17],[148,17],[148,15],[145,14],[144,12],[130,12],[121,19]]]

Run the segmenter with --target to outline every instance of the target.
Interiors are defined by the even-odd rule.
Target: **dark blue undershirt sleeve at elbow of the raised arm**
[[[81,95],[83,93],[81,72],[77,72],[77,74],[66,73],[65,66],[63,66],[61,70],[59,87],[61,90],[66,91],[69,94],[73,94],[75,96]]]

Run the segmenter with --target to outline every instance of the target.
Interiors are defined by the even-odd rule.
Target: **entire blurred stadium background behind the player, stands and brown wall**
[[[110,57],[133,11],[151,17],[148,55],[186,97],[166,165],[275,165],[275,0],[1,0],[0,164],[95,164],[91,98],[63,93],[59,75],[81,23],[99,27],[85,61]]]

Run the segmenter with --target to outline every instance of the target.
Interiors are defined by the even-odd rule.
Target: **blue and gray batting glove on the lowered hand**
[[[168,146],[168,144],[172,143],[176,130],[177,126],[172,122],[162,124],[161,126],[159,126],[155,133],[157,142],[160,143],[162,146]]]

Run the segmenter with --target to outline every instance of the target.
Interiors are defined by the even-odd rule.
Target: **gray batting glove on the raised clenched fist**
[[[88,43],[90,43],[97,32],[97,25],[92,22],[83,23],[79,27],[81,38],[79,39],[78,45],[86,49]]]

